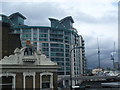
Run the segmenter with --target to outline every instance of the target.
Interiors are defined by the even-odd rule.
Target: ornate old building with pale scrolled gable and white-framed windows
[[[17,48],[14,55],[0,61],[0,87],[2,90],[56,90],[57,63],[48,59],[41,51],[32,48]]]

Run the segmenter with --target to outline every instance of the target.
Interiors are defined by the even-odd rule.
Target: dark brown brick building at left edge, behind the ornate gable
[[[12,24],[5,15],[0,15],[0,59],[13,54],[17,47],[21,47],[20,34],[12,33]]]

